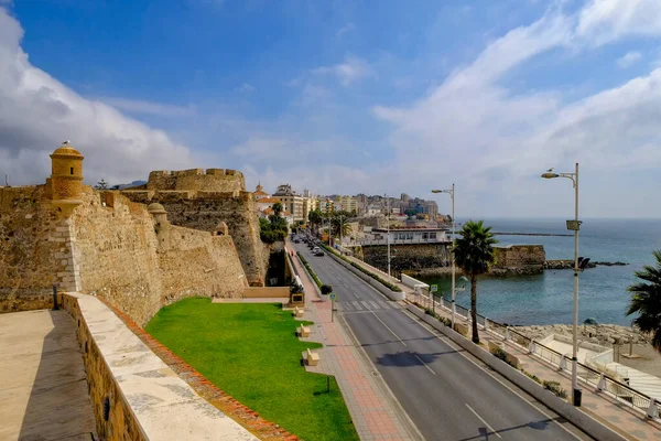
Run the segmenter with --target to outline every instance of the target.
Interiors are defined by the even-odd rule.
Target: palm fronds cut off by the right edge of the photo
[[[628,288],[631,301],[627,315],[639,313],[632,324],[642,332],[652,333],[652,346],[661,353],[661,249],[652,254],[657,266],[646,265],[642,271],[636,271],[640,281]]]

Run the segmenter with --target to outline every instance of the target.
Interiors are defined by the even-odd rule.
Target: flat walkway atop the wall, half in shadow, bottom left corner
[[[0,439],[98,439],[69,314],[0,314]]]

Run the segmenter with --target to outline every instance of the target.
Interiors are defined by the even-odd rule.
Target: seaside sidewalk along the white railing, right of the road
[[[401,283],[399,286],[407,291],[407,299],[416,297],[408,287],[404,287]],[[423,303],[424,301],[426,301],[426,303]],[[427,305],[429,299],[419,299],[418,303]],[[436,308],[436,313],[442,314],[447,319],[451,319],[452,316],[449,311],[442,308]],[[457,323],[467,324],[469,326],[469,322],[459,314],[456,314],[456,321]],[[497,333],[480,329],[479,340],[485,345],[488,345],[489,341],[505,343],[507,345],[507,351],[519,358],[520,368],[529,374],[537,375],[542,380],[557,381],[563,389],[571,394],[572,377],[570,373],[560,372],[557,366],[551,365],[548,362],[531,355],[524,347],[521,347],[511,341],[503,342],[502,336]],[[579,381],[578,387],[583,389],[581,409],[585,413],[627,439],[661,440],[661,423],[658,421],[647,419],[643,412],[631,408],[631,406],[606,392],[600,392],[592,385]]]

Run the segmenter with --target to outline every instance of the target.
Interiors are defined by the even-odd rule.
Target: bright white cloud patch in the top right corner
[[[592,0],[579,13],[576,34],[602,45],[627,35],[661,35],[661,1]]]

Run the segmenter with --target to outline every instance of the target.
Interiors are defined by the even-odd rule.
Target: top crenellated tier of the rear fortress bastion
[[[149,174],[147,189],[243,192],[246,181],[241,172],[229,169],[154,171]]]

